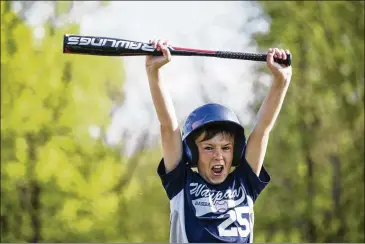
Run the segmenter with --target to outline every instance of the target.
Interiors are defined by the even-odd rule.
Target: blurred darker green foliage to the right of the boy
[[[291,51],[293,78],[270,136],[256,241],[364,242],[364,2],[260,5],[271,27],[255,39]]]

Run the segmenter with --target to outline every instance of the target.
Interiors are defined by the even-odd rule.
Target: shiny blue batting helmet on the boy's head
[[[209,103],[198,107],[185,120],[182,140],[184,156],[188,165],[190,167],[196,167],[199,158],[198,148],[192,135],[198,129],[213,124],[218,124],[234,131],[235,143],[232,166],[238,166],[246,147],[244,128],[232,110],[217,103]]]

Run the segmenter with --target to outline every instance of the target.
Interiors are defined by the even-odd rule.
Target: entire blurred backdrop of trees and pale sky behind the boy
[[[1,241],[168,242],[144,57],[62,53],[64,34],[293,54],[255,242],[364,242],[364,2],[1,1]],[[173,57],[182,124],[207,102],[249,135],[264,62]]]

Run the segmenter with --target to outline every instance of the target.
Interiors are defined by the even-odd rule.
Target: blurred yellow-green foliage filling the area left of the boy
[[[46,23],[38,40],[9,4],[1,2],[2,242],[167,241],[168,201],[158,159],[148,160],[160,155],[129,162],[88,132],[122,100],[122,63],[63,54],[63,35],[78,26]],[[127,174],[131,163],[139,177]]]

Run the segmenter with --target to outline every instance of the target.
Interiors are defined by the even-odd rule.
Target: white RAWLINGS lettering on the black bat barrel
[[[110,38],[97,38],[97,37],[79,37],[79,36],[70,36],[67,39],[67,45],[80,45],[80,46],[107,46],[107,47],[115,47],[115,48],[126,48],[131,50],[142,49],[143,51],[153,52],[155,48],[147,43],[127,41],[127,40],[118,40],[118,39],[110,39]],[[170,47],[170,49],[172,49]]]

